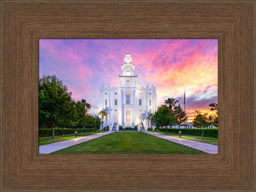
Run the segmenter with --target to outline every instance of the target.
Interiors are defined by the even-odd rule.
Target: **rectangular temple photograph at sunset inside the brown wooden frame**
[[[39,50],[40,154],[218,154],[217,39],[40,39]]]

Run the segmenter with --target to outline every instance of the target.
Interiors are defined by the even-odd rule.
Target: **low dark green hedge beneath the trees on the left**
[[[54,129],[54,135],[70,135],[75,134],[76,129]],[[89,129],[90,132],[96,131],[96,129]],[[88,129],[77,129],[78,134],[81,132],[88,132]],[[39,129],[39,137],[50,137],[52,136],[52,129]]]

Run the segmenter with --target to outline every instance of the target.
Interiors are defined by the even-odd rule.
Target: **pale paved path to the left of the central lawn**
[[[111,134],[112,131],[102,132],[100,134],[93,134],[84,137],[78,137],[75,139],[70,139],[67,141],[54,142],[53,144],[41,145],[39,146],[39,154],[50,154],[53,151],[58,151],[72,145],[81,144],[81,142],[86,142],[97,137],[101,137],[107,134]]]

